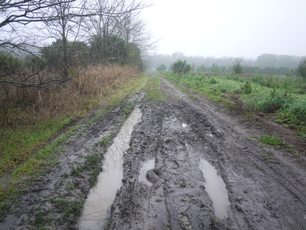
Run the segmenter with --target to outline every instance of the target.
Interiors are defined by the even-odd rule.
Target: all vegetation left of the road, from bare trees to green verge
[[[56,165],[61,144],[80,125],[46,144],[69,123],[102,107],[84,121],[90,125],[144,87],[139,73],[155,42],[140,11],[149,6],[134,0],[0,6],[0,198]]]

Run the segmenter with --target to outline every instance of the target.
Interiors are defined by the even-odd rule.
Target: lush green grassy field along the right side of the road
[[[306,82],[302,79],[264,75],[175,75],[167,71],[160,74],[175,85],[206,94],[216,102],[237,106],[231,97],[238,98],[247,108],[269,113],[277,122],[295,129],[297,136],[306,138]]]

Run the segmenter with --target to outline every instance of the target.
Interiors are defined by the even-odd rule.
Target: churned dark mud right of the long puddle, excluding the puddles
[[[142,102],[142,121],[125,156],[109,229],[305,229],[305,170],[288,163],[277,149],[269,151],[278,164],[265,162],[258,155],[265,148],[245,140],[266,134],[264,129],[246,129],[204,97],[182,100],[181,91],[161,82],[170,99]],[[147,172],[153,185],[148,187],[138,175],[153,158],[155,168]],[[226,183],[228,217],[214,215],[198,167],[202,158]]]

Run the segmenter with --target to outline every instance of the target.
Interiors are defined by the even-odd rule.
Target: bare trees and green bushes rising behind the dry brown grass
[[[58,89],[96,65],[144,68],[155,48],[136,0],[0,1],[0,85]]]

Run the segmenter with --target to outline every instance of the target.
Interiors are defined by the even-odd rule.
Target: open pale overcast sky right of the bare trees
[[[157,53],[306,55],[306,0],[153,0],[143,18]]]

